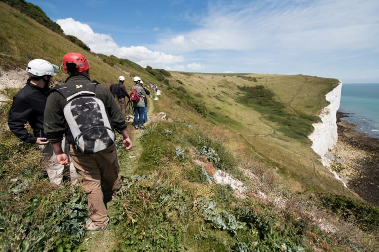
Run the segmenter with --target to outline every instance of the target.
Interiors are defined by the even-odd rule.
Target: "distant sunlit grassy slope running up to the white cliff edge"
[[[169,89],[177,95],[170,98],[174,103],[174,109],[170,112],[175,113],[175,117],[190,118],[191,123],[202,125],[211,134],[215,128],[227,131],[224,134],[228,135],[230,141],[226,144],[229,144],[241,160],[260,159],[283,175],[289,186],[295,190],[312,188],[349,195],[341,183],[319,162],[319,156],[311,149],[311,142],[306,137],[312,130],[311,123],[317,121],[315,114],[328,105],[325,94],[338,84],[336,79],[265,74],[211,75],[171,72],[171,75],[168,78]],[[244,92],[238,86],[258,85],[274,92],[273,99],[283,105],[283,115],[279,119],[269,118],[276,113],[272,109],[241,102]],[[178,109],[175,105],[185,106],[183,99],[180,101],[178,98],[183,93],[202,104],[206,110],[205,117],[196,116],[197,111],[194,111],[196,118],[189,117],[184,111],[176,112]],[[313,121],[301,120],[302,118]],[[304,121],[306,127],[302,126]],[[286,123],[290,125],[283,126]],[[298,132],[297,129],[301,127],[304,129]],[[307,130],[309,127],[310,130]]]

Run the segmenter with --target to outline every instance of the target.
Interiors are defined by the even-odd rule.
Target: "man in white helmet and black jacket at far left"
[[[29,79],[13,97],[8,126],[20,140],[38,144],[41,152],[48,158],[46,170],[49,180],[54,185],[59,185],[63,179],[65,166],[56,160],[52,146],[43,132],[43,112],[50,91],[49,83],[52,76],[56,75],[56,70],[58,70],[57,66],[42,59],[35,59],[28,63],[25,72],[29,75]],[[33,135],[25,128],[27,122],[33,129]],[[65,146],[66,141],[62,141],[62,143],[62,148],[68,153],[68,148]],[[67,168],[70,169],[70,179],[76,183],[77,174],[72,162],[69,167]]]

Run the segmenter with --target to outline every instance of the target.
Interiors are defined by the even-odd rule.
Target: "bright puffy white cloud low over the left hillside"
[[[153,68],[162,68],[167,64],[184,61],[183,56],[152,51],[144,46],[119,47],[111,36],[94,33],[89,25],[75,21],[73,18],[59,19],[56,22],[61,26],[65,34],[76,36],[95,53],[126,58],[142,67],[150,65]]]

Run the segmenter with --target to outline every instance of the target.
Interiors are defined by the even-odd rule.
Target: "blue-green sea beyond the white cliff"
[[[379,139],[379,83],[342,83],[339,111],[356,131]]]

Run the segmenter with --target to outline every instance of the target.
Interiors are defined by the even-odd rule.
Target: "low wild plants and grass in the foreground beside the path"
[[[8,141],[3,142],[1,151],[12,155],[1,163],[1,249],[93,251],[95,248],[80,242],[89,235],[82,227],[87,207],[83,191],[70,184],[60,190],[52,188],[38,150],[28,144],[9,149],[6,146],[17,140],[6,134]],[[275,180],[249,182],[236,169],[239,161],[222,143],[207,138],[190,124],[152,122],[136,141],[143,146],[138,165],[122,167],[122,187],[109,206],[112,214],[107,231],[114,239],[112,251],[311,252],[315,248],[339,251],[348,245],[347,241],[332,240],[305,214],[300,207],[302,198],[286,196],[288,192],[275,185]],[[120,163],[125,163],[127,151],[118,152]],[[17,160],[21,155],[27,157],[28,167]],[[276,208],[269,200],[236,197],[230,186],[214,183],[212,176],[195,163],[201,155],[216,170],[246,181],[249,195],[257,192],[258,182],[261,193],[281,198],[283,205]],[[263,167],[252,165],[245,164],[245,169],[257,175],[266,173],[261,178],[269,177],[260,170]],[[344,211],[356,210],[345,206]],[[378,215],[372,217],[378,220]]]

